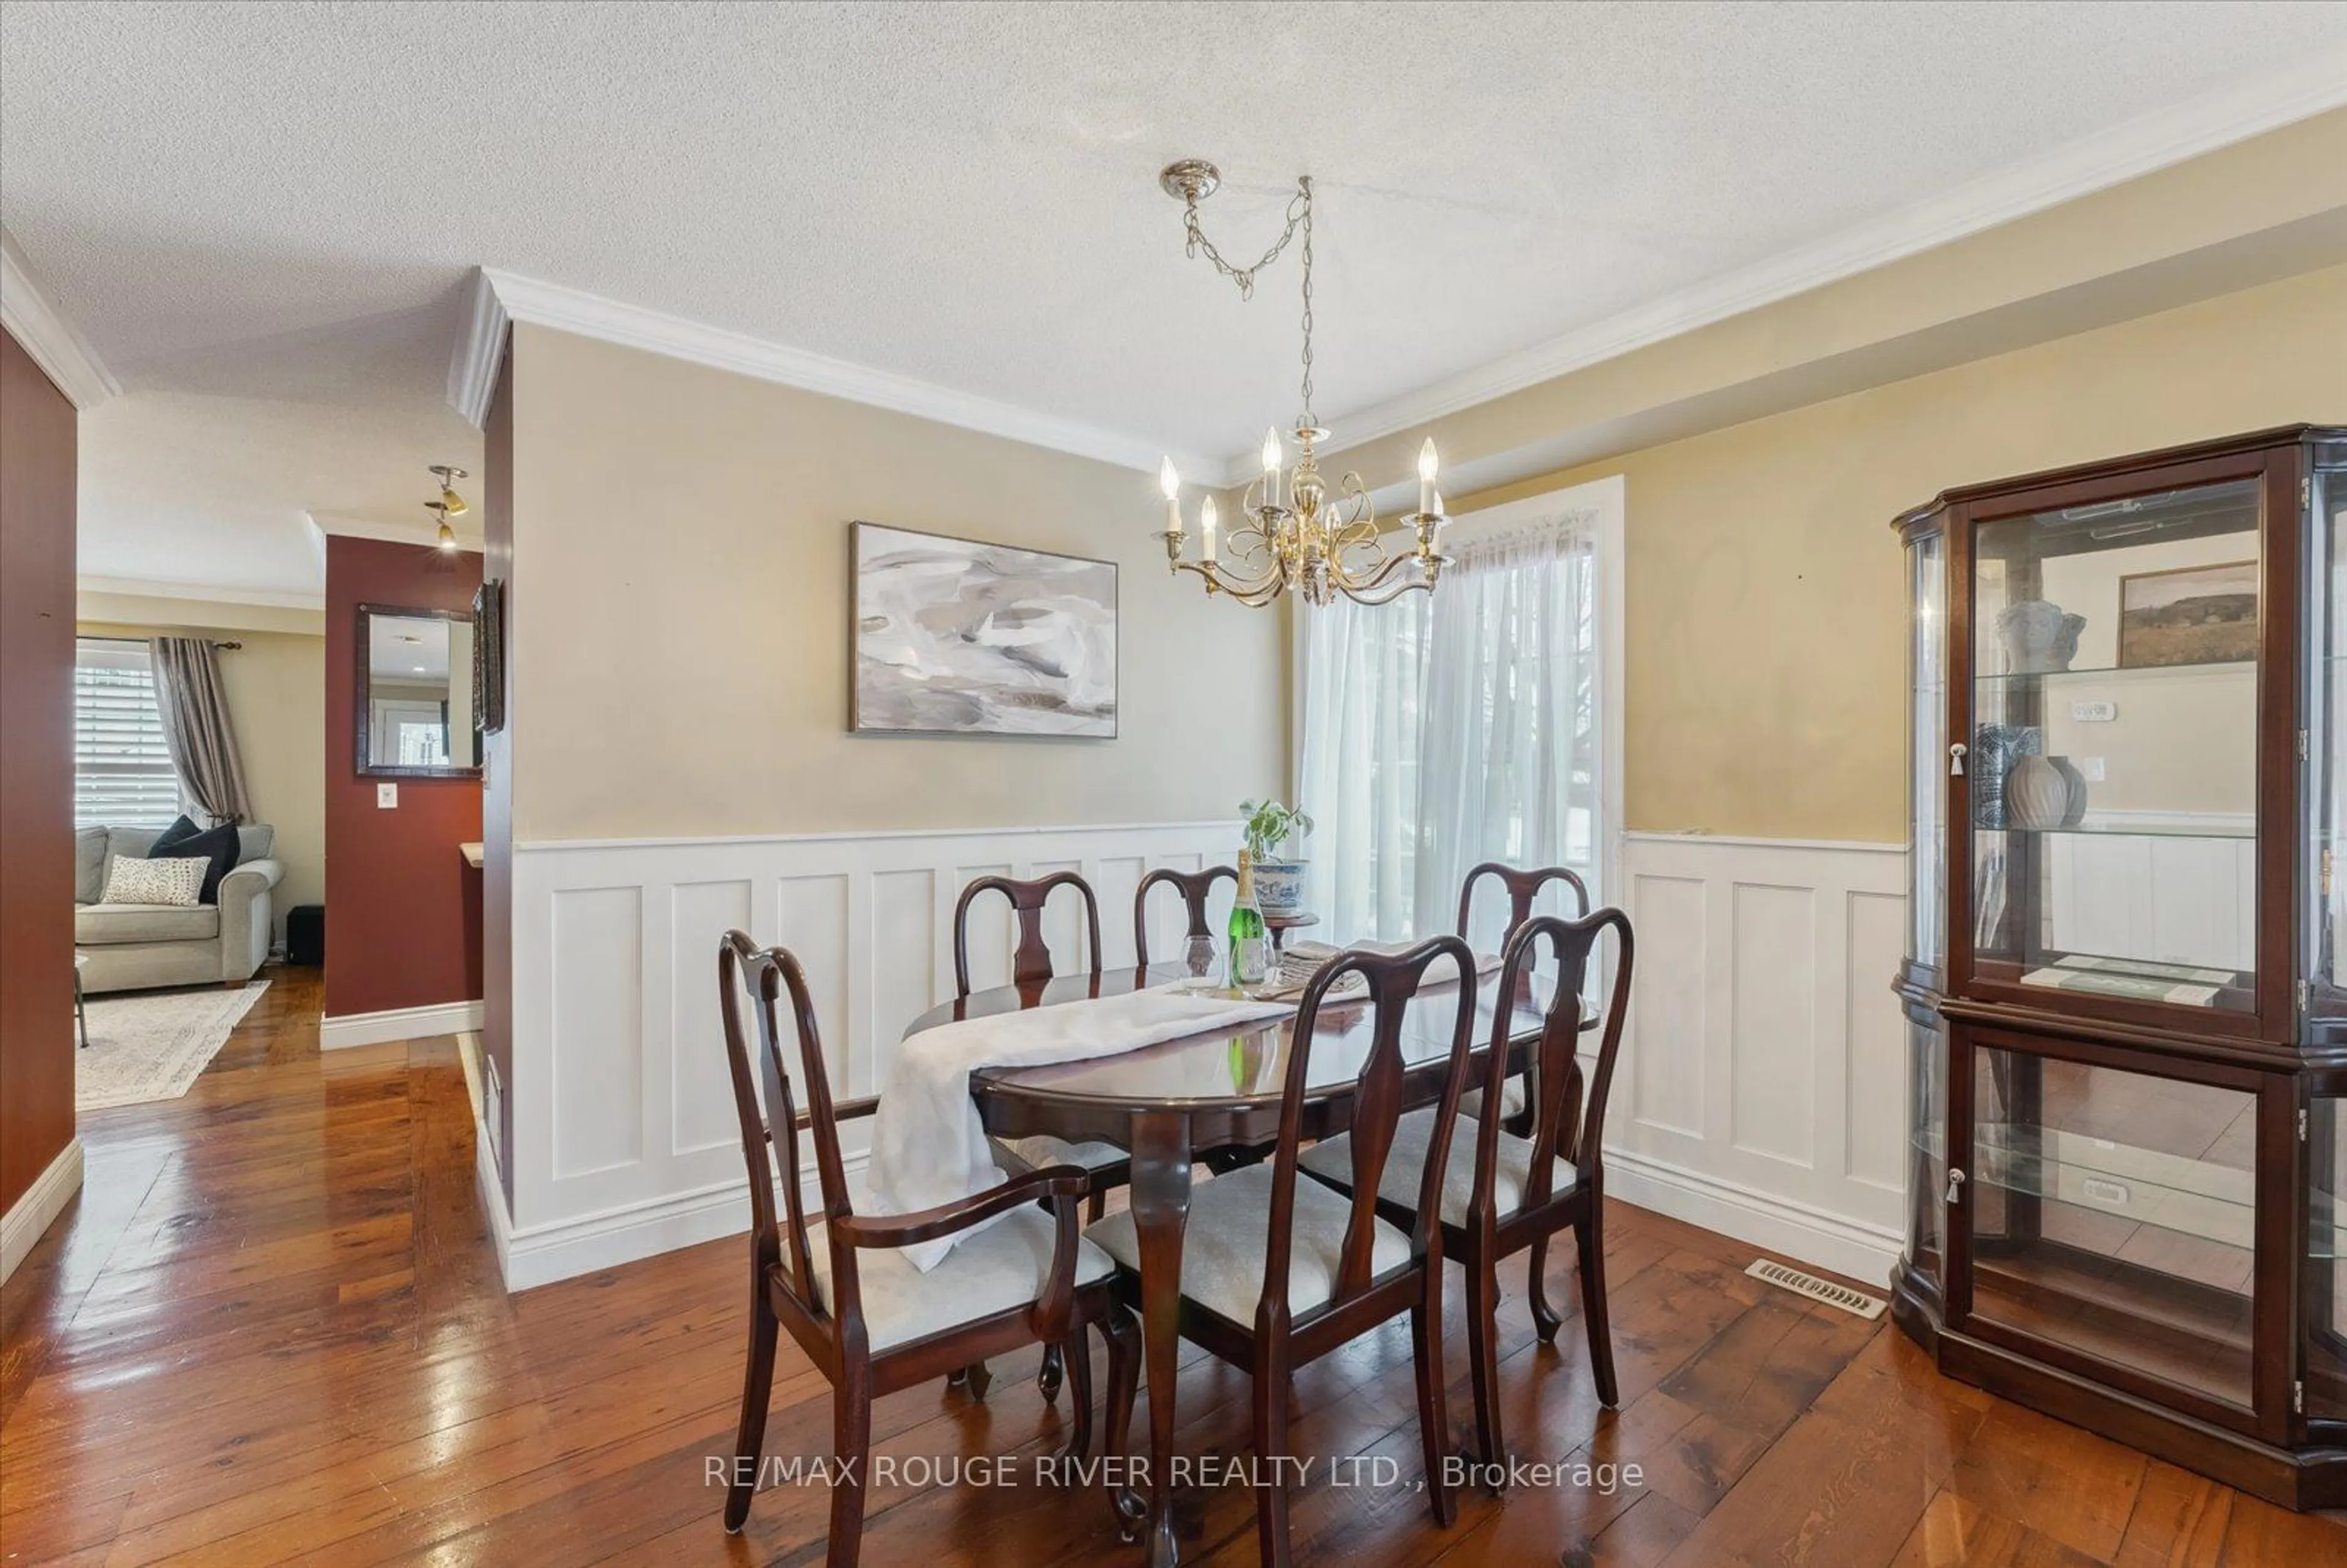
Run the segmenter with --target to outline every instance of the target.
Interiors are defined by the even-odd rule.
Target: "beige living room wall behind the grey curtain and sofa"
[[[188,601],[171,601],[181,624],[87,620],[82,636],[214,636],[244,648],[221,655],[228,714],[237,725],[244,789],[253,817],[277,829],[275,859],[286,869],[272,894],[277,937],[296,904],[326,901],[326,638],[298,631],[221,627]],[[235,610],[237,606],[223,606]]]

